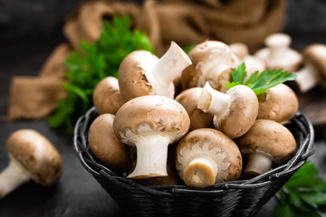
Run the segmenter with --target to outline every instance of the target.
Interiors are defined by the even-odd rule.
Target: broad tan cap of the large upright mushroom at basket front
[[[131,99],[117,112],[113,130],[120,141],[133,145],[141,135],[158,133],[170,143],[183,137],[190,126],[186,109],[174,99],[147,95]]]

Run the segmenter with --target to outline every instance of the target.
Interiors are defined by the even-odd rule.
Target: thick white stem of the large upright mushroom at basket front
[[[135,141],[137,163],[129,178],[168,176],[167,158],[169,137],[148,134]]]

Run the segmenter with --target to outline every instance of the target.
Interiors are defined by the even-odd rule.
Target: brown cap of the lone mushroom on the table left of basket
[[[62,175],[62,157],[53,144],[34,129],[19,129],[6,140],[8,153],[37,184],[50,186]]]

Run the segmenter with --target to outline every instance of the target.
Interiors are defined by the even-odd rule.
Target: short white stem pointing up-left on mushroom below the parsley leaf
[[[228,95],[212,89],[208,82],[206,82],[205,87],[200,94],[197,109],[214,114],[216,117],[222,117],[224,116],[229,104],[230,98]]]

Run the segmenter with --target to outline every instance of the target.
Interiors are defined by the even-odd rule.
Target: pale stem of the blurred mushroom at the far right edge
[[[311,90],[318,84],[318,72],[312,64],[307,63],[300,71],[296,71],[295,82],[301,92]]]

